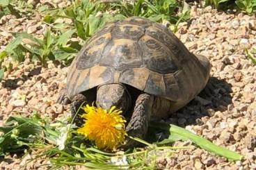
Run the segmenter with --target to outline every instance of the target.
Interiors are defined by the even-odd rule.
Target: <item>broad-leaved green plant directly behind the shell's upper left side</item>
[[[93,35],[97,29],[116,19],[125,18],[123,15],[106,13],[106,6],[100,2],[92,3],[88,0],[75,1],[64,9],[51,10],[46,15],[45,22],[54,24],[54,19],[72,19],[71,28],[76,29],[77,35],[84,41]]]

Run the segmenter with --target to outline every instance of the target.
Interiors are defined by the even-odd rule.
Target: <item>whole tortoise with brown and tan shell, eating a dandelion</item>
[[[127,133],[145,138],[150,119],[189,103],[205,88],[210,69],[205,56],[191,53],[165,26],[129,17],[90,37],[70,66],[58,103],[72,103],[73,115],[82,103],[115,105],[129,120]]]

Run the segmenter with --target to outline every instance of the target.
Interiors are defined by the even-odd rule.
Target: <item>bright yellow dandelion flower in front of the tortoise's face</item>
[[[81,117],[85,119],[86,123],[78,129],[78,133],[94,141],[98,148],[115,149],[119,144],[125,142],[126,121],[120,115],[122,110],[116,110],[115,106],[110,110],[104,110],[89,105],[86,105],[83,110],[86,113]]]

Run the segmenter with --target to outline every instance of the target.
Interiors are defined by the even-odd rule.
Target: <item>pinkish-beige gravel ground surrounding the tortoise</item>
[[[243,51],[256,46],[256,18],[196,6],[192,7],[192,15],[189,22],[179,24],[176,35],[190,51],[211,60],[211,78],[206,90],[166,121],[237,151],[245,159],[228,162],[192,146],[171,157],[159,157],[157,164],[163,169],[256,169],[256,66]],[[40,15],[33,19],[7,15],[0,19],[0,49],[10,41],[10,32],[28,31],[40,37],[47,27],[40,21]],[[69,106],[56,103],[68,67],[48,62],[44,68],[26,60],[19,65],[14,63],[13,68],[0,84],[0,126],[17,113],[27,115],[38,110],[56,119],[70,111]],[[191,143],[175,145],[191,146]],[[20,163],[16,155],[8,156],[0,167],[19,169]],[[43,162],[34,162],[28,169],[38,169],[40,164]]]

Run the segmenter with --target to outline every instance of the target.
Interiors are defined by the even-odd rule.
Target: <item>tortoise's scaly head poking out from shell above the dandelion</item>
[[[131,95],[125,85],[110,83],[97,88],[96,104],[98,107],[109,109],[115,105],[125,114],[131,107]]]

